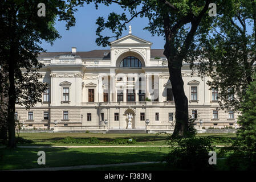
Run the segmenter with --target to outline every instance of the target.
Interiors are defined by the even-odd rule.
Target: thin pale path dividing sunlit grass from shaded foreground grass
[[[18,148],[115,148],[115,147],[170,147],[170,146],[18,146]],[[228,147],[228,146],[213,146]],[[5,148],[5,146],[0,146]]]

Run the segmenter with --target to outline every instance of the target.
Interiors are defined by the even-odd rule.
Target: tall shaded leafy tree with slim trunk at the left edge
[[[46,16],[38,16],[38,4],[44,2]],[[41,40],[52,42],[60,38],[54,28],[56,17],[66,20],[67,29],[75,24],[74,6],[65,1],[10,0],[0,6],[0,65],[8,78],[6,90],[8,146],[15,147],[15,104],[29,109],[40,102],[46,84],[37,71],[43,64],[36,58],[44,51]],[[42,12],[41,12],[42,14]],[[1,113],[2,114],[2,113]]]

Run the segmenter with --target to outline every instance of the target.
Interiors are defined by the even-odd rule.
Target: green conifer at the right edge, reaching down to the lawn
[[[252,76],[243,102],[242,115],[239,115],[237,141],[233,144],[234,153],[229,156],[227,164],[232,169],[256,170],[256,74]]]

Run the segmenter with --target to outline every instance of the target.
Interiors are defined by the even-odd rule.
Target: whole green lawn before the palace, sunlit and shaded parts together
[[[198,134],[198,137],[212,136],[222,139],[233,139],[235,134]],[[114,147],[114,148],[16,148],[8,150],[0,148],[0,170],[2,169],[28,169],[41,167],[65,167],[91,164],[113,164],[113,163],[132,163],[145,161],[161,161],[168,154],[168,147],[150,147],[165,144],[166,134],[93,134],[93,133],[21,133],[20,137],[33,140],[33,143],[18,144],[19,146],[68,146],[68,145],[115,145],[115,139],[136,140],[135,147]],[[86,140],[90,138],[99,139],[99,144],[90,143],[61,143],[66,137],[72,139]],[[219,140],[216,140],[219,141]],[[137,145],[147,145],[148,147],[136,147]],[[46,152],[46,165],[37,164],[37,152]],[[218,153],[218,148],[216,152]],[[218,158],[223,156],[218,156]],[[225,156],[224,156],[225,157]],[[96,169],[96,168],[95,168]],[[92,170],[95,170],[92,169]],[[97,168],[97,170],[108,170],[109,168]],[[112,168],[120,170],[129,169],[168,169],[165,164],[145,164],[135,167],[125,166]]]

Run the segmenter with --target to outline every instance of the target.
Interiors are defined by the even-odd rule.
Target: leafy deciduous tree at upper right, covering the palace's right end
[[[196,66],[212,78],[208,85],[219,89],[221,108],[239,110],[255,71],[256,1],[223,3],[209,32],[201,36]]]

